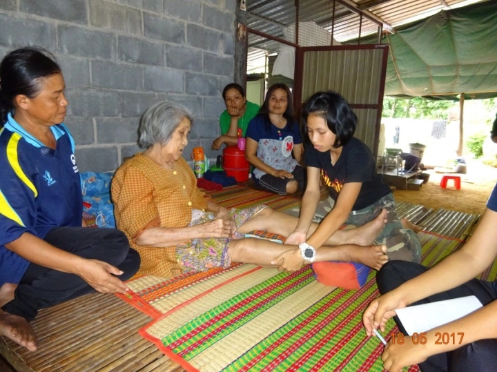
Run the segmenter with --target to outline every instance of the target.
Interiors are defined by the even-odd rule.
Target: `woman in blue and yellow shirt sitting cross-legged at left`
[[[21,48],[1,62],[0,335],[30,351],[39,309],[93,290],[124,293],[139,268],[124,233],[84,227],[65,89],[45,50]]]

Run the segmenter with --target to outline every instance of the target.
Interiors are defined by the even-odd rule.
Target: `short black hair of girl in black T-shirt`
[[[306,102],[302,110],[302,133],[304,133],[306,144],[311,145],[307,130],[309,115],[322,117],[327,122],[328,128],[336,135],[334,148],[346,145],[355,133],[357,116],[340,93],[332,90],[317,92]]]

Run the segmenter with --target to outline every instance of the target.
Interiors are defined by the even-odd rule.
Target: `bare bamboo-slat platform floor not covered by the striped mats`
[[[398,203],[397,211],[425,231],[457,239],[471,236],[480,219],[407,202]],[[38,351],[0,337],[0,354],[18,372],[184,371],[137,333],[148,322],[147,315],[113,295],[86,295],[40,311],[32,322]]]

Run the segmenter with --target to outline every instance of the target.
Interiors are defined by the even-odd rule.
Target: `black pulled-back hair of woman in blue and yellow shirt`
[[[41,90],[41,78],[61,73],[55,57],[43,48],[26,47],[12,50],[0,64],[0,126],[15,108],[17,95],[36,97]]]

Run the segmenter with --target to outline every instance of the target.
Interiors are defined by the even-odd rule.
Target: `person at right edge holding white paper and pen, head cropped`
[[[367,335],[378,327],[384,331],[395,309],[474,295],[483,307],[465,317],[426,333],[425,344],[414,344],[404,327],[404,343],[390,340],[382,354],[384,369],[400,371],[418,364],[427,371],[495,371],[497,366],[497,282],[474,279],[497,257],[497,185],[487,202],[480,224],[467,244],[445,260],[426,268],[403,261],[387,262],[376,275],[382,296],[362,315]],[[449,335],[440,341],[436,333]]]

